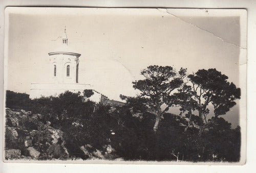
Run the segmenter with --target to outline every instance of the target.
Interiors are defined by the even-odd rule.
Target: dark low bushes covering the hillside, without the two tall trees
[[[35,100],[21,101],[19,97],[26,98],[26,95],[7,94],[7,107],[44,115],[43,122],[50,121],[52,127],[65,133],[70,158],[87,159],[80,150],[86,144],[92,146],[92,151],[104,151],[104,146],[110,144],[116,156],[124,160],[177,161],[178,157],[183,161],[233,162],[240,158],[240,128],[231,129],[231,124],[223,118],[209,119],[207,130],[199,135],[197,128],[184,132],[184,119],[166,113],[154,133],[155,116],[150,113],[134,116],[129,106],[110,107],[83,102],[82,96],[72,92]],[[10,102],[14,98],[18,102]],[[25,127],[30,127],[28,123],[31,122],[24,120],[24,123]],[[37,127],[33,125],[31,128]],[[6,138],[6,144],[11,144],[10,139]]]

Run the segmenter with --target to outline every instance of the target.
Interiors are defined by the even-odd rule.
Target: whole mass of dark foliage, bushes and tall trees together
[[[108,153],[108,147],[111,146],[112,154],[104,155],[105,159],[194,162],[240,160],[240,127],[231,129],[231,124],[218,116],[227,112],[235,104],[234,100],[240,98],[239,88],[228,83],[226,76],[220,73],[221,78],[216,78],[208,86],[210,83],[205,81],[206,77],[202,73],[209,76],[209,73],[218,73],[216,69],[188,76],[192,86],[182,82],[185,69],[175,72],[170,67],[150,66],[147,70],[142,71],[142,75],[148,77],[146,73],[152,71],[154,75],[151,73],[145,81],[134,82],[134,87],[142,91],[142,96],[122,96],[126,100],[124,106],[91,102],[86,98],[93,92],[85,90],[82,94],[66,91],[56,97],[34,100],[30,100],[27,94],[7,91],[6,107],[43,115],[42,123],[50,121],[52,128],[63,132],[69,158],[88,159],[89,154],[84,153],[82,147],[87,147],[89,153]],[[156,73],[170,77],[158,78]],[[200,81],[199,78],[204,80]],[[209,77],[210,80],[213,78]],[[216,86],[216,80],[222,84]],[[204,118],[203,111],[208,113],[207,107],[202,104],[199,106],[196,100],[198,93],[193,90],[195,86],[202,87],[205,92],[201,94],[201,101],[212,102],[216,108],[212,118]],[[151,93],[152,97],[147,96]],[[217,99],[218,94],[220,97]],[[161,103],[168,108],[179,105],[181,114],[168,113],[164,108],[161,108],[161,114],[156,114]],[[154,109],[155,112],[152,111]],[[202,115],[197,110],[202,110]],[[162,120],[154,129],[158,115]],[[37,129],[36,125],[31,128]],[[9,143],[10,139],[6,137],[6,147]]]

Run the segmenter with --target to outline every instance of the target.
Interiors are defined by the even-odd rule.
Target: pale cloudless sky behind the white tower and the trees
[[[49,81],[48,53],[66,26],[79,57],[79,83],[91,84],[110,99],[133,96],[132,82],[149,65],[169,65],[188,73],[216,68],[241,87],[243,43],[238,15],[215,11],[181,13],[165,9],[25,8],[10,10],[6,88],[29,94],[31,83]],[[243,96],[243,95],[242,95]],[[177,113],[177,110],[174,110]],[[223,116],[224,117],[224,116]],[[226,115],[239,125],[239,104]]]

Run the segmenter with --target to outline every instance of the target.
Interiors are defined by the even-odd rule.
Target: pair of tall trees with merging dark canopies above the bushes
[[[141,93],[137,97],[121,98],[131,106],[134,115],[140,116],[143,112],[154,114],[155,132],[162,115],[174,105],[180,107],[180,115],[186,112],[187,128],[190,125],[203,126],[208,123],[210,105],[214,107],[214,115],[218,117],[236,105],[235,100],[241,95],[240,88],[229,83],[228,77],[215,68],[199,69],[187,76],[186,83],[186,68],[176,71],[171,66],[154,65],[143,69],[141,75],[145,79],[133,82],[133,87]],[[195,123],[191,120],[195,116],[199,116],[201,120]]]

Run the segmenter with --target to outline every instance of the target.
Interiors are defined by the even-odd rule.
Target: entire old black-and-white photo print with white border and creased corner
[[[243,9],[5,10],[4,161],[246,157]]]

